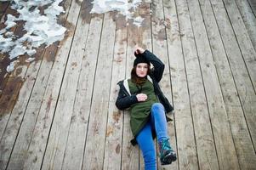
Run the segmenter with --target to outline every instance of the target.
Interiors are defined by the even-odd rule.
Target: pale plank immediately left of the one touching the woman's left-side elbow
[[[111,68],[116,31],[115,23],[111,17],[112,13],[107,13],[103,21],[82,169],[102,169],[104,163]]]

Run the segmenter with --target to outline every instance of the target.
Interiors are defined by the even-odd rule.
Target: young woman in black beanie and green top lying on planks
[[[130,126],[134,139],[139,144],[145,162],[145,169],[156,170],[156,150],[153,139],[157,137],[162,165],[171,164],[177,157],[169,144],[167,113],[174,111],[168,99],[162,94],[158,82],[162,79],[164,65],[156,55],[143,48],[136,48],[131,78],[122,80],[117,97],[117,108],[130,108]],[[151,69],[151,64],[154,66]]]

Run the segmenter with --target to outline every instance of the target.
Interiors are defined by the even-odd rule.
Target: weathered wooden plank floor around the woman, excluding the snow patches
[[[136,44],[165,63],[161,87],[175,108],[178,161],[158,168],[256,169],[254,0],[145,0],[141,27],[90,14],[90,0],[63,4],[65,40],[39,48],[30,65],[20,57],[9,75],[1,54],[1,170],[144,169],[129,113],[115,106]],[[1,17],[9,13],[1,3]]]

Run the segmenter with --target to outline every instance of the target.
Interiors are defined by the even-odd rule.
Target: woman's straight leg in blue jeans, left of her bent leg
[[[156,170],[156,150],[151,132],[151,123],[148,122],[136,137],[139,149],[142,150],[145,170]]]

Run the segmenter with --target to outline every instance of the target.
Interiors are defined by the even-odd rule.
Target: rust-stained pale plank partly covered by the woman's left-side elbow
[[[111,75],[109,116],[105,139],[104,169],[121,169],[123,111],[118,111],[115,103],[118,95],[117,82],[125,78],[127,48],[127,26],[124,16],[116,20],[116,39]]]

